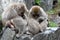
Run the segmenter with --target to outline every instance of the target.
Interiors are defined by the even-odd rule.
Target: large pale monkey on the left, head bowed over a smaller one
[[[28,15],[28,9],[24,3],[12,3],[2,13],[3,25],[5,25],[7,21],[17,16],[21,16],[23,19],[25,19],[25,15]]]

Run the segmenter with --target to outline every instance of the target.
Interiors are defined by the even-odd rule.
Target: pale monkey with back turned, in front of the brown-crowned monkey
[[[42,27],[39,25],[39,23],[36,20],[29,19],[27,22],[28,22],[28,31],[27,32],[30,32],[31,34],[35,35],[35,34],[43,31]]]

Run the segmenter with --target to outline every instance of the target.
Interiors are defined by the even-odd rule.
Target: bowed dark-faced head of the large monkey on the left
[[[24,3],[14,3],[12,4],[12,8],[17,14],[24,18],[25,12],[28,12],[26,5]]]

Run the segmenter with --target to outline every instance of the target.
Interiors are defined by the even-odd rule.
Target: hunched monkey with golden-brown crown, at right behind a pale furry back
[[[33,18],[36,21],[38,21],[38,23],[40,24],[43,30],[46,29],[48,24],[47,22],[48,15],[40,6],[32,6],[28,16],[29,16],[29,19]]]

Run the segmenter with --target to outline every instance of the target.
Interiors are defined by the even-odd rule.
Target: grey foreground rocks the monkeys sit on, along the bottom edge
[[[23,34],[19,38],[14,37],[14,32],[7,28],[3,33],[1,40],[60,40],[60,28],[49,28],[42,33],[34,36]]]

